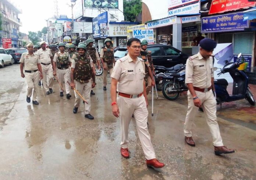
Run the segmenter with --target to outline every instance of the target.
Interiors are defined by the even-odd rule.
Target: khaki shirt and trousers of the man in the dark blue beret
[[[204,60],[203,56],[198,54],[188,58],[186,62],[186,78],[185,83],[193,83],[193,87],[209,88],[211,87],[211,78],[214,77],[213,58]],[[196,95],[202,103],[202,108],[206,117],[206,122],[210,128],[211,136],[213,137],[213,146],[223,146],[220,136],[220,129],[216,117],[217,102],[213,91],[200,92],[195,91]],[[191,127],[198,107],[194,105],[193,97],[188,91],[188,112],[184,125],[184,133],[186,137],[191,137]]]

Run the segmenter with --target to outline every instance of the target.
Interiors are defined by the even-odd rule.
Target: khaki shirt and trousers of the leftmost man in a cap
[[[25,78],[28,84],[27,96],[30,98],[33,91],[33,101],[36,101],[38,95],[38,83],[39,83],[39,70],[38,64],[39,56],[35,52],[30,55],[28,52],[24,52],[21,55],[19,62],[24,63]],[[31,71],[31,72],[29,72]],[[33,90],[34,89],[34,90]]]

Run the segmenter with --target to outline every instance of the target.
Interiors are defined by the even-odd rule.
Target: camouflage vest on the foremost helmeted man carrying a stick
[[[90,55],[78,55],[75,59],[74,79],[84,83],[92,78],[92,68],[90,67]]]

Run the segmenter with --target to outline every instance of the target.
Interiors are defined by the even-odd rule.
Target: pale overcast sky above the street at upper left
[[[54,15],[54,0],[9,0],[22,10],[18,17],[22,22],[20,32],[28,34],[29,31],[41,31],[47,25],[46,19]],[[58,0],[58,14],[71,18],[70,0]]]

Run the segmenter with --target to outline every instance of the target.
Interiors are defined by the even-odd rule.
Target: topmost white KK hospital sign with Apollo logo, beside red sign
[[[168,16],[184,15],[184,14],[198,14],[200,10],[200,3],[190,4],[168,11]]]

